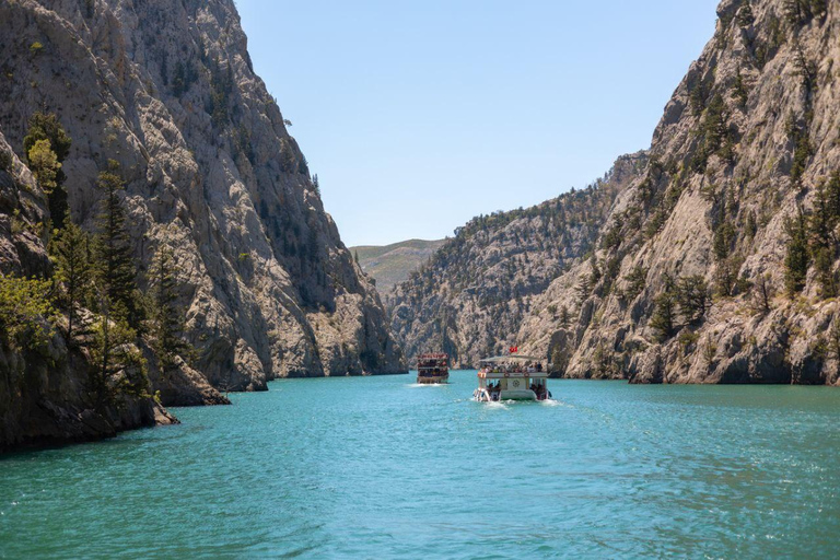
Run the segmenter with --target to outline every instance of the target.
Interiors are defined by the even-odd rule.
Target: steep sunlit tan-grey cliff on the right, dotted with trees
[[[840,4],[724,0],[714,38],[657,126],[651,162],[600,232],[609,285],[575,290],[580,262],[534,303],[517,340],[559,375],[654,383],[838,383],[837,232],[818,273],[815,244],[801,292],[785,293],[800,209],[840,170]],[[813,225],[808,226],[813,231]],[[653,320],[680,278],[713,296],[696,317],[677,305],[672,332]],[[830,281],[830,280],[829,280]],[[658,300],[657,300],[658,299]],[[567,305],[575,320],[540,314]]]

